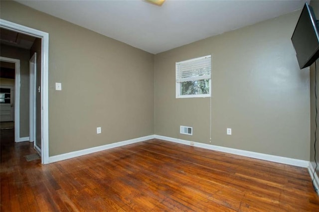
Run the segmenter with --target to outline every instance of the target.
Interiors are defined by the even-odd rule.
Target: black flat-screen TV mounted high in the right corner
[[[319,57],[319,26],[313,8],[305,3],[291,38],[300,69],[313,64]]]

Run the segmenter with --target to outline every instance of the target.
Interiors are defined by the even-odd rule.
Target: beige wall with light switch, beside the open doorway
[[[0,17],[49,33],[50,156],[154,134],[153,54],[14,1]]]

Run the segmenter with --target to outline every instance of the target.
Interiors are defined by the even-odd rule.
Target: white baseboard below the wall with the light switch
[[[70,159],[70,158],[74,158],[74,157],[79,157],[82,155],[87,155],[90,153],[99,152],[99,151],[103,151],[106,149],[112,149],[115,147],[125,146],[125,145],[132,144],[132,143],[138,143],[138,142],[146,141],[146,140],[150,140],[150,139],[154,139],[154,135],[144,136],[144,137],[140,137],[140,138],[134,138],[134,139],[126,140],[126,141],[120,141],[120,142],[106,144],[103,146],[92,147],[92,148],[88,148],[88,149],[82,149],[82,150],[74,151],[74,152],[68,152],[68,153],[61,154],[61,155],[55,155],[55,156],[49,157],[49,163],[54,163],[57,161],[66,160],[66,159]]]

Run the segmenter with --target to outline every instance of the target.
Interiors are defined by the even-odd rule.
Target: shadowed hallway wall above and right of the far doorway
[[[1,2],[2,6],[2,2]],[[0,45],[1,57],[20,60],[20,137],[29,136],[29,50]]]

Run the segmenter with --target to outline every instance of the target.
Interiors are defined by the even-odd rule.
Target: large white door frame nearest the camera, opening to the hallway
[[[49,163],[49,109],[48,109],[48,59],[49,34],[30,27],[0,19],[0,27],[41,38],[41,159],[42,164]],[[15,89],[17,90],[17,89]]]

